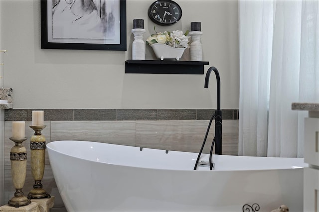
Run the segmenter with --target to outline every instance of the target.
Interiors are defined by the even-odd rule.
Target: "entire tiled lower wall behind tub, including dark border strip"
[[[42,134],[46,142],[56,140],[87,140],[164,150],[199,152],[209,118],[213,110],[44,110],[45,125]],[[238,112],[223,112],[223,154],[238,154]],[[14,145],[11,136],[12,120],[25,120],[25,136],[30,138],[34,131],[31,124],[31,110],[5,110],[4,121],[4,195],[5,201],[14,195],[11,182],[9,152]],[[236,119],[234,119],[236,118]],[[213,139],[214,125],[208,135],[204,153],[208,153]],[[23,142],[29,155],[29,139]],[[57,190],[49,159],[46,154],[43,188],[55,196],[51,212],[66,212]],[[23,192],[25,195],[34,182],[27,159],[27,177]]]

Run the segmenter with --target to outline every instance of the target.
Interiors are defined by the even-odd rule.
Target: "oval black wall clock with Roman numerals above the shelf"
[[[160,25],[170,25],[181,18],[181,8],[172,0],[155,1],[148,13],[151,20]]]

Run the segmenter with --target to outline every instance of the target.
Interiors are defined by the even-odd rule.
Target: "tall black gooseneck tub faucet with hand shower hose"
[[[210,118],[210,121],[209,121],[209,124],[208,124],[208,127],[207,127],[207,131],[206,131],[206,134],[205,134],[205,138],[204,138],[203,144],[202,144],[202,146],[200,148],[200,151],[199,151],[199,154],[198,154],[198,157],[197,157],[197,160],[196,160],[196,164],[195,164],[194,170],[196,170],[196,168],[197,168],[197,164],[198,164],[200,155],[201,155],[201,153],[203,151],[203,148],[204,148],[204,145],[205,145],[205,142],[206,142],[206,139],[207,139],[207,135],[208,135],[208,132],[209,132],[209,129],[210,129],[210,125],[211,125],[213,119],[215,119],[215,136],[214,136],[214,139],[212,141],[211,148],[210,148],[210,153],[209,153],[209,168],[210,168],[210,170],[212,170],[212,167],[213,167],[211,159],[212,159],[212,152],[213,152],[214,144],[215,144],[215,154],[216,155],[221,155],[222,116],[221,116],[221,109],[220,109],[220,77],[219,77],[218,70],[215,67],[210,67],[208,69],[208,71],[206,73],[206,77],[205,77],[204,88],[208,88],[209,77],[210,77],[210,73],[212,71],[215,72],[216,81],[217,81],[217,108],[215,110],[215,113]]]

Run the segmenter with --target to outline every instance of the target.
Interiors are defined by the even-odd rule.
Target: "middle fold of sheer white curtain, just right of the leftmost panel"
[[[297,157],[301,2],[277,1],[274,15],[267,155]]]

